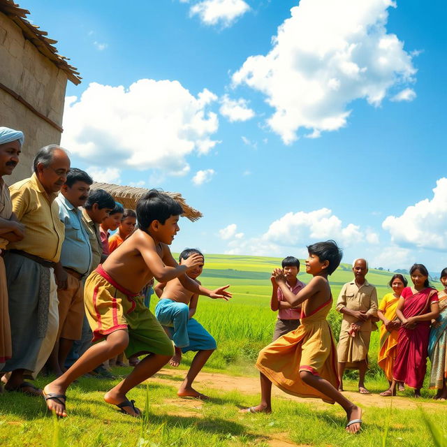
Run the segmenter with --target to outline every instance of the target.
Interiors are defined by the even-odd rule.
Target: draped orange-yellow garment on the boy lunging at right
[[[258,356],[256,367],[278,388],[298,397],[319,397],[334,401],[300,379],[300,371],[321,376],[338,388],[337,347],[326,321],[332,298],[306,315],[302,307],[301,325],[266,346]]]

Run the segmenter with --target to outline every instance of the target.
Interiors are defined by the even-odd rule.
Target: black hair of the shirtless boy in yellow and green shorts
[[[159,221],[161,225],[171,216],[179,216],[183,208],[168,194],[151,189],[147,191],[137,203],[138,228],[147,231],[152,221]]]

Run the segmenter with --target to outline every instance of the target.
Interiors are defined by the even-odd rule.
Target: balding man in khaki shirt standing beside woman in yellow
[[[365,278],[368,272],[365,259],[356,259],[352,270],[354,279],[344,284],[337,300],[337,311],[343,314],[337,347],[339,390],[343,391],[343,373],[348,367],[358,369],[358,392],[369,394],[365,388],[365,374],[371,331],[377,329],[374,323],[377,318],[377,291]]]

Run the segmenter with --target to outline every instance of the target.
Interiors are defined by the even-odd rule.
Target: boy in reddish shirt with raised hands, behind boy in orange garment
[[[281,262],[284,276],[286,277],[286,285],[293,294],[297,294],[306,284],[301,282],[297,276],[300,272],[300,261],[293,256],[287,256]],[[272,298],[270,300],[270,309],[273,312],[278,311],[277,322],[274,325],[273,339],[278,339],[291,330],[295,330],[300,325],[301,306],[292,308],[284,299],[281,288],[278,287],[277,281],[271,277],[272,281]]]

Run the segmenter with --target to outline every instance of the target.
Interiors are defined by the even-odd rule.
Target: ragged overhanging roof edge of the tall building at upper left
[[[24,38],[31,41],[47,59],[50,59],[57,68],[65,71],[67,78],[73,84],[78,85],[81,82],[82,78],[77,68],[67,62],[70,59],[57,53],[57,48],[53,45],[57,41],[46,37],[48,35],[47,31],[42,31],[27,20],[29,10],[20,8],[13,0],[0,0],[0,12],[7,15],[14,22],[22,30]]]

